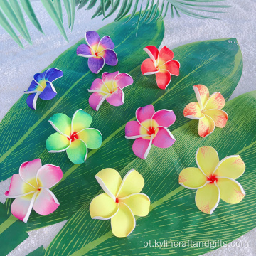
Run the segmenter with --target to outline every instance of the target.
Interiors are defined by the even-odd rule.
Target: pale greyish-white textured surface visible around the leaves
[[[194,41],[217,38],[237,38],[242,50],[244,68],[238,87],[236,87],[231,96],[231,98],[233,98],[242,93],[256,90],[256,2],[255,0],[228,0],[223,2],[223,4],[233,7],[225,9],[224,11],[227,11],[225,14],[215,14],[215,17],[221,18],[220,21],[201,20],[190,16],[171,19],[170,15],[167,14],[164,20],[164,41],[161,46],[175,48]],[[26,18],[28,30],[31,33],[33,41],[32,46],[21,38],[25,50],[19,48],[4,29],[0,27],[0,120],[18,98],[23,95],[23,91],[28,88],[35,73],[41,72],[41,70],[52,63],[60,53],[63,53],[64,50],[73,46],[74,43],[84,36],[86,31],[101,28],[105,24],[113,21],[115,16],[107,18],[105,21],[102,21],[102,18],[95,18],[91,21],[90,17],[94,14],[96,8],[90,11],[85,11],[85,9],[77,11],[73,32],[68,31],[67,33],[69,38],[69,43],[67,43],[63,36],[60,35],[41,2],[33,2],[33,7],[36,10],[36,15],[38,16],[45,36],[38,32],[31,22],[28,21],[28,18]],[[63,16],[65,28],[68,28],[68,19],[65,10],[63,10]],[[8,190],[9,182],[10,179],[0,183],[0,201],[3,203],[5,201],[4,191]],[[41,245],[47,247],[64,224],[65,221],[30,232],[30,237],[16,247],[9,255],[26,255],[28,252],[36,250],[36,248]],[[209,252],[207,256],[254,256],[256,255],[255,240],[256,229],[238,238],[238,240],[235,240],[235,242],[248,242],[250,247],[233,247],[233,244],[229,245],[230,247],[223,247]]]

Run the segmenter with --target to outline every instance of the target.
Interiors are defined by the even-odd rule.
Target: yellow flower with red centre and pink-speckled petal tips
[[[227,156],[219,161],[218,153],[211,146],[196,151],[198,168],[188,167],[181,171],[178,182],[189,189],[196,189],[196,206],[203,213],[212,214],[220,198],[226,203],[239,203],[245,191],[237,178],[245,171],[245,163],[238,155]]]

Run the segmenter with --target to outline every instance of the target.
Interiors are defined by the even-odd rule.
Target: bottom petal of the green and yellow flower
[[[67,149],[68,158],[73,164],[82,164],[87,157],[87,146],[80,139],[75,139]]]

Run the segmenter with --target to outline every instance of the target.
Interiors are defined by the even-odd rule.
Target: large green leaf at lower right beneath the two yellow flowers
[[[183,102],[186,105],[186,102]],[[256,189],[256,91],[230,100],[225,105],[230,119],[224,129],[202,139],[197,134],[198,121],[176,129],[176,142],[169,149],[154,147],[146,160],[134,159],[120,174],[136,169],[144,176],[142,190],[151,198],[149,215],[137,218],[137,227],[127,238],[112,235],[110,220],[92,220],[86,203],[65,224],[48,246],[45,255],[201,255],[230,242],[255,228]],[[245,113],[247,116],[245,117]],[[178,174],[188,166],[196,167],[195,154],[200,146],[213,146],[223,159],[240,154],[246,171],[238,181],[245,198],[237,205],[220,201],[212,215],[202,213],[195,204],[195,191],[178,184]],[[114,164],[111,167],[115,167]],[[97,185],[96,191],[100,191]],[[101,191],[100,191],[101,192]],[[151,240],[151,247],[149,247]],[[213,242],[211,247],[156,247],[161,242]],[[217,241],[219,240],[219,243]],[[144,242],[148,247],[144,248]],[[164,245],[164,244],[163,244]],[[194,245],[194,244],[193,244]],[[195,246],[195,245],[194,245]]]

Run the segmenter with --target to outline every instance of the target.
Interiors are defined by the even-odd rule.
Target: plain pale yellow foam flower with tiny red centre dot
[[[111,219],[112,233],[119,238],[127,237],[136,225],[134,215],[149,213],[150,199],[140,193],[144,187],[142,175],[132,169],[122,180],[116,170],[107,168],[98,172],[95,178],[105,193],[92,199],[92,219]]]

